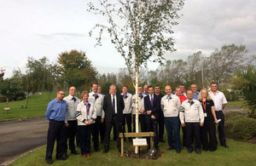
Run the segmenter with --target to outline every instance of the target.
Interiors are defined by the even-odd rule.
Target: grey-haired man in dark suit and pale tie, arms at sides
[[[108,152],[110,133],[113,126],[116,129],[117,135],[117,147],[121,152],[121,143],[119,139],[119,133],[122,132],[122,120],[123,110],[125,108],[123,97],[120,94],[116,94],[116,86],[110,85],[109,94],[104,97],[103,111],[105,112],[105,135],[104,135],[104,151]]]

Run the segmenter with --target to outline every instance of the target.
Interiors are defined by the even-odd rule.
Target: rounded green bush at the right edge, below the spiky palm
[[[249,140],[256,135],[256,119],[232,112],[225,116],[225,135],[233,140]]]

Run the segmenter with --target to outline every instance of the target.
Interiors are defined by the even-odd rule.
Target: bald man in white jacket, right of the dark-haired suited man
[[[172,94],[171,86],[166,86],[166,95],[161,99],[161,109],[164,113],[166,132],[168,137],[169,149],[175,149],[177,153],[181,152],[179,136],[179,110],[180,100],[177,95]],[[174,139],[172,138],[174,134]],[[174,141],[173,141],[174,140]]]

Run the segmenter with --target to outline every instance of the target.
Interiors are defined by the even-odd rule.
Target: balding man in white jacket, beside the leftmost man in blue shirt
[[[74,138],[76,136],[77,127],[78,127],[78,122],[76,119],[76,111],[77,111],[77,106],[79,105],[80,100],[75,96],[76,94],[75,87],[70,87],[68,93],[69,95],[63,99],[67,101],[67,112],[66,112],[66,118],[65,118],[65,126],[66,126],[65,148],[67,153],[67,139],[68,139],[69,150],[71,151],[71,153],[78,155],[79,152],[77,152],[75,149]]]

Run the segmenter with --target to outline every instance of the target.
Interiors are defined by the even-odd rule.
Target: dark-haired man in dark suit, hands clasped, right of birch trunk
[[[158,118],[159,118],[159,110],[160,110],[160,96],[154,94],[154,90],[152,86],[148,86],[148,95],[144,98],[144,106],[145,106],[145,123],[146,123],[146,131],[154,131],[154,148],[159,150],[158,147]],[[150,141],[148,141],[148,149],[150,148]]]

